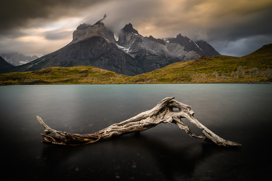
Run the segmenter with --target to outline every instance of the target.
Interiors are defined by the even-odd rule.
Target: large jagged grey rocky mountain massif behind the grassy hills
[[[194,42],[181,34],[168,39],[143,37],[130,23],[120,31],[116,41],[113,32],[105,27],[104,18],[94,25],[79,25],[73,32],[72,42],[63,48],[1,73],[90,65],[124,75],[139,75],[202,55],[220,55],[207,42]]]

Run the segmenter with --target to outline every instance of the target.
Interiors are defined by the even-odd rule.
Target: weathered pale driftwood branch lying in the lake
[[[138,114],[137,116],[125,120],[121,123],[113,124],[103,130],[100,130],[93,134],[70,134],[67,132],[56,131],[48,127],[40,118],[37,119],[41,125],[46,129],[44,132],[46,135],[42,134],[44,138],[42,143],[44,144],[61,144],[61,145],[80,145],[94,143],[102,139],[109,139],[112,136],[122,136],[132,132],[139,132],[148,130],[160,123],[174,123],[178,125],[181,129],[185,130],[191,137],[200,138],[207,142],[214,142],[219,146],[235,146],[240,145],[235,142],[230,142],[228,140],[222,139],[210,130],[208,130],[204,125],[198,122],[194,117],[194,111],[191,110],[191,106],[182,104],[178,101],[173,100],[175,97],[166,97],[157,106],[149,111]],[[173,108],[178,110],[174,110]],[[183,123],[181,118],[187,118],[192,123],[197,125],[199,129],[202,130],[202,135],[194,135],[189,127]],[[52,136],[49,136],[50,134]]]

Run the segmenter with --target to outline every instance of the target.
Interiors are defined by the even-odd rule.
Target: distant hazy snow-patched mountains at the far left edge
[[[33,56],[25,56],[21,53],[15,52],[15,53],[8,53],[8,54],[0,54],[2,58],[4,58],[5,61],[10,63],[11,65],[18,66],[23,65],[26,63],[29,63],[37,58],[39,58],[36,55]]]

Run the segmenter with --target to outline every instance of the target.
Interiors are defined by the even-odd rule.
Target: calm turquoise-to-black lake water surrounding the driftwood
[[[0,87],[2,173],[30,180],[266,180],[271,178],[272,85],[26,85]],[[40,143],[44,128],[88,134],[152,109],[163,98],[242,146],[220,147],[160,124],[89,145]],[[200,130],[184,120],[193,133]]]

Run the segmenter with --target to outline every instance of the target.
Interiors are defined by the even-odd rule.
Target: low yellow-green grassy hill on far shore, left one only
[[[32,72],[0,74],[5,85],[33,84],[118,84],[129,77],[93,66],[49,67]]]

